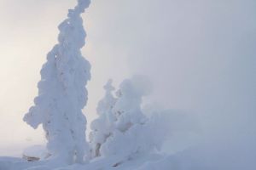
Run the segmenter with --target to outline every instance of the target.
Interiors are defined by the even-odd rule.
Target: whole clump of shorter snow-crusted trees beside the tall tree
[[[143,96],[149,94],[150,87],[150,82],[141,76],[125,79],[115,98],[108,81],[106,95],[97,107],[99,117],[90,125],[91,158],[119,156],[125,160],[160,150],[166,136],[161,127],[166,123],[157,114],[148,118],[141,109]]]

